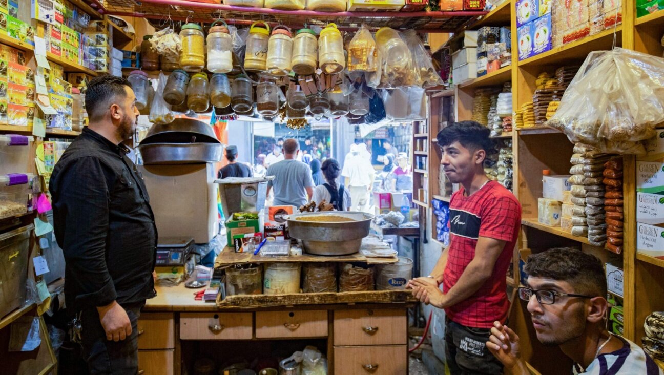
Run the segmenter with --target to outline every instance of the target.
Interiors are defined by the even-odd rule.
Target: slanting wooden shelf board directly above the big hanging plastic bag
[[[529,57],[525,60],[519,61],[519,67],[531,67],[541,65],[562,65],[569,64],[574,60],[584,60],[588,53],[595,50],[610,50],[614,45],[614,31],[616,32],[616,43],[620,46],[622,40],[622,25],[618,25],[616,29],[611,27],[595,35],[574,40],[563,44],[562,46],[552,48],[546,52]],[[570,61],[571,60],[571,61]]]

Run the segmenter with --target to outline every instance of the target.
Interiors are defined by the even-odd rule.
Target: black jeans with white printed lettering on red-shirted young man
[[[465,327],[446,320],[445,356],[452,375],[503,373],[503,364],[489,352],[491,329]]]

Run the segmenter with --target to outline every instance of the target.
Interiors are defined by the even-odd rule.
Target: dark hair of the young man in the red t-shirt
[[[459,121],[444,127],[438,132],[438,146],[449,146],[459,142],[467,149],[477,151],[483,149],[487,155],[493,151],[493,141],[489,138],[491,131],[477,121]]]

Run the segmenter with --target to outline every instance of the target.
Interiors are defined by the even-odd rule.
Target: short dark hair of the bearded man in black
[[[116,100],[116,98],[125,98],[127,96],[125,86],[131,88],[129,81],[110,74],[92,78],[88,82],[88,90],[85,94],[85,107],[88,117],[90,119],[99,118],[108,110],[110,102]]]

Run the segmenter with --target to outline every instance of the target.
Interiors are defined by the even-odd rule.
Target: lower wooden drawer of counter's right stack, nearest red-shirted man
[[[334,372],[343,375],[408,374],[408,348],[400,346],[356,346],[334,348]]]

